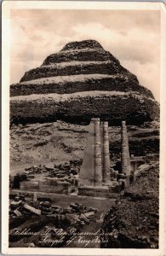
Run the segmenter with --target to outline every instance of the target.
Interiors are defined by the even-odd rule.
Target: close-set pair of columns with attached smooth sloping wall
[[[92,119],[80,179],[83,184],[101,185],[110,178],[108,122]]]

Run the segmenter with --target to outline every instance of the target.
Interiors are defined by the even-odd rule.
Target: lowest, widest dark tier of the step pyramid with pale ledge
[[[15,124],[62,119],[82,125],[93,117],[108,119],[112,125],[120,125],[122,119],[130,125],[138,125],[159,115],[152,98],[119,91],[14,96],[10,113],[11,122]]]

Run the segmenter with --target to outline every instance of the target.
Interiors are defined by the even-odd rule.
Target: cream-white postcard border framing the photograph
[[[160,209],[158,249],[95,248],[9,248],[9,38],[10,9],[125,9],[158,10],[161,13],[161,128],[160,128]],[[82,2],[82,1],[4,1],[2,21],[2,252],[5,254],[49,255],[165,255],[166,181],[166,8],[164,3]]]

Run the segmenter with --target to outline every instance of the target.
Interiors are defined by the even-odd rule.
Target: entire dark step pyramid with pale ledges
[[[41,67],[10,86],[11,123],[62,119],[84,124],[100,117],[110,124],[142,124],[158,118],[152,92],[94,40],[66,44]]]

